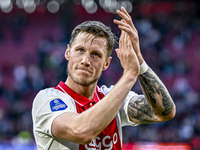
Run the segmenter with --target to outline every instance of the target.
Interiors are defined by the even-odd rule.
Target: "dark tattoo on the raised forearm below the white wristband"
[[[149,68],[146,73],[139,76],[139,81],[153,109],[159,109],[157,106],[162,104],[162,115],[167,116],[172,111],[173,103],[167,89],[160,79]],[[160,102],[159,99],[162,101]]]

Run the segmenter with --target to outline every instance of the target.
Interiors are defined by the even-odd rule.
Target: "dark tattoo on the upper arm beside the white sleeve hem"
[[[128,106],[129,116],[139,120],[141,123],[156,119],[154,110],[150,107],[143,95],[137,97],[137,99],[133,97]]]

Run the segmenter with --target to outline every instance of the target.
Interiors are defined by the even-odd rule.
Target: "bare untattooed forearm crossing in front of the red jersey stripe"
[[[88,126],[88,132],[95,132],[96,135],[114,119],[122,106],[127,94],[133,87],[137,77],[129,78],[122,76],[113,89],[96,105],[82,113],[82,123]],[[94,134],[94,133],[92,133]]]

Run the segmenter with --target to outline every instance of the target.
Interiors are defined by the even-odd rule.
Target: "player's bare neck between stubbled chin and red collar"
[[[94,97],[94,92],[96,89],[97,83],[91,84],[89,86],[82,86],[80,84],[74,83],[69,77],[65,81],[65,84],[72,89],[74,92],[83,95],[84,97],[92,100]]]

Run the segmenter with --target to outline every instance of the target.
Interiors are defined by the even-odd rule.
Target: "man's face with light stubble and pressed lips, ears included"
[[[96,37],[88,33],[79,33],[73,44],[66,50],[68,59],[68,75],[71,80],[82,86],[96,83],[102,70],[107,69],[111,57],[106,60],[107,41],[103,37]]]

